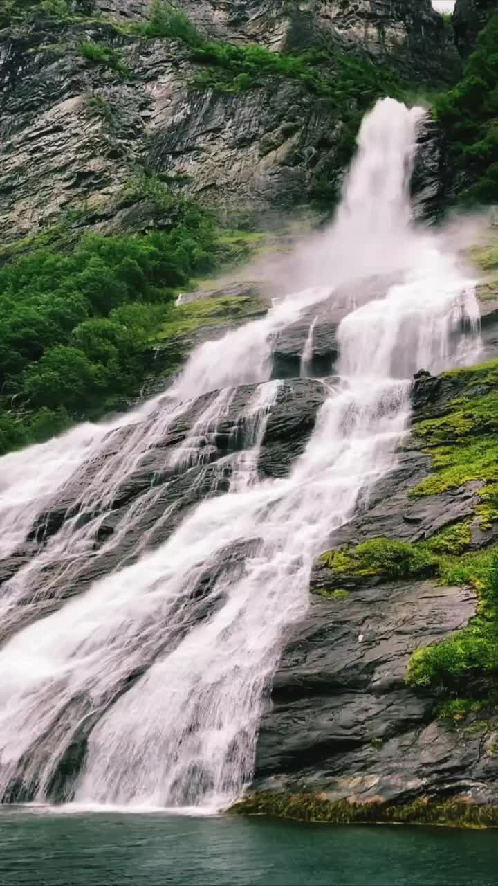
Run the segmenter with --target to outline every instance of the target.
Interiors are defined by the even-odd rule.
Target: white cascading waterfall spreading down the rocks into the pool
[[[409,420],[409,378],[421,367],[439,371],[469,361],[478,345],[472,282],[453,256],[409,224],[421,113],[387,99],[363,121],[345,200],[328,234],[331,255],[354,243],[358,260],[348,268],[342,254],[328,286],[279,299],[222,346],[200,346],[166,396],[128,416],[124,436],[116,437],[123,434],[116,424],[87,426],[0,461],[7,550],[50,494],[64,499],[78,470],[87,478],[66,521],[4,585],[4,799],[62,794],[87,804],[218,809],[250,781],[268,687],[285,628],[307,609],[314,557],[353,516],[359,496],[393,467]],[[276,332],[330,298],[335,285],[393,269],[399,283],[385,298],[340,323],[338,377],[323,380],[325,402],[290,475],[261,480],[258,454],[278,393],[269,381]],[[221,460],[228,491],[214,496],[208,486],[206,499],[183,514],[167,540],[152,547],[145,534],[84,593],[66,599],[70,591],[58,592],[63,579],[70,587],[78,578],[107,507],[155,443],[197,408],[161,470],[166,484],[179,466],[197,471],[192,476],[200,482],[237,386],[254,384],[233,431],[244,444],[229,447]],[[201,394],[206,400],[198,400]],[[214,473],[213,483],[219,478]],[[118,510],[102,556],[117,549],[159,494],[152,486]],[[160,517],[161,526],[172,513]],[[41,612],[46,617],[34,620]]]

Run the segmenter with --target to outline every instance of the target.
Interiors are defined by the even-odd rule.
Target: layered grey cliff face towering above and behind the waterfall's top
[[[430,0],[323,0],[294,12],[265,0],[183,6],[223,39],[302,49],[319,38],[376,64],[388,61],[412,79],[437,80],[432,61],[452,76],[447,32]],[[65,225],[76,229],[167,228],[167,215],[134,189],[137,167],[229,221],[257,214],[261,224],[265,213],[318,198],[324,179],[340,187],[347,158],[342,114],[330,98],[299,80],[271,77],[245,91],[196,88],[198,62],[184,43],[140,39],[91,18],[93,11],[130,22],[148,9],[143,0],[75,0],[74,11],[89,18],[41,16],[0,32],[3,243],[69,210]],[[83,58],[88,41],[118,53],[121,72]],[[433,140],[424,145],[416,184],[423,213],[432,212],[436,185],[425,179],[433,179],[440,156]]]

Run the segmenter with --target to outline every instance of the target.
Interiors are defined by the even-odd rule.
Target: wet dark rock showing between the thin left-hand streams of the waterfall
[[[167,421],[167,412],[161,418],[166,406],[159,405],[142,423],[110,433],[94,457],[47,503],[27,542],[0,563],[0,579],[7,583],[32,558],[43,556],[35,574],[18,589],[0,638],[7,637],[14,625],[19,629],[57,609],[92,581],[134,563],[144,550],[167,540],[199,501],[227,492],[234,470],[232,456],[253,446],[244,410],[255,388],[238,387],[226,413],[198,431],[196,421],[216,391],[193,400],[173,421]],[[291,470],[326,395],[323,383],[315,379],[282,382],[261,442],[257,463],[261,477],[284,477]],[[183,459],[173,459],[190,434]],[[88,495],[92,484],[94,497]],[[69,530],[80,530],[80,539],[83,533],[87,541],[82,548],[72,542],[61,557],[58,542]],[[209,571],[213,569],[212,564]],[[206,583],[208,576],[202,580]]]

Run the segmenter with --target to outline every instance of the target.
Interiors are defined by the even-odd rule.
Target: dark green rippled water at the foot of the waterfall
[[[498,833],[0,812],[1,886],[495,886]]]

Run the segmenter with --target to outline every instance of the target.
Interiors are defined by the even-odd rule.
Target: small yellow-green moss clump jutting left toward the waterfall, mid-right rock
[[[430,550],[408,541],[377,538],[355,548],[326,551],[321,560],[336,575],[383,575],[390,579],[430,575],[434,563]]]

